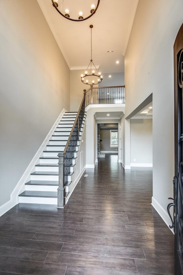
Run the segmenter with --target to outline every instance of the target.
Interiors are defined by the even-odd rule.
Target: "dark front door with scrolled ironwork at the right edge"
[[[174,233],[175,275],[183,274],[183,24],[174,44],[175,177]]]

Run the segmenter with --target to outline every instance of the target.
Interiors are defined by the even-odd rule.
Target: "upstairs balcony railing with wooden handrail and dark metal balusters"
[[[85,107],[89,104],[125,103],[125,86],[91,87],[85,91]]]

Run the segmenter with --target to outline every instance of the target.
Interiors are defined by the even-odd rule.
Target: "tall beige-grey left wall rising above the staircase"
[[[69,68],[36,0],[0,1],[0,205],[63,108]]]

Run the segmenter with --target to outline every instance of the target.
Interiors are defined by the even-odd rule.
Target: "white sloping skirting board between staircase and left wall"
[[[11,209],[13,206],[15,206],[16,204],[19,203],[19,197],[18,194],[22,191],[25,190],[24,188],[24,184],[27,181],[27,178],[30,176],[31,171],[33,170],[35,164],[37,163],[39,157],[41,156],[41,153],[43,152],[44,147],[46,146],[47,142],[49,141],[49,139],[51,138],[51,135],[53,134],[55,128],[57,127],[57,124],[59,123],[59,121],[61,120],[64,112],[67,112],[67,110],[63,109],[61,111],[61,113],[59,114],[58,118],[56,119],[55,123],[53,124],[53,127],[51,128],[51,130],[49,131],[49,133],[47,134],[45,140],[43,141],[43,143],[41,144],[41,146],[39,147],[37,153],[35,154],[35,156],[33,157],[33,159],[31,160],[29,166],[27,167],[27,169],[25,170],[25,172],[23,173],[22,177],[20,178],[19,182],[17,183],[17,185],[15,186],[13,192],[11,193],[11,197],[9,202],[3,204],[0,209],[2,209],[2,214],[7,212],[9,209]],[[24,189],[23,189],[24,188]],[[1,210],[0,210],[0,215],[1,215]]]

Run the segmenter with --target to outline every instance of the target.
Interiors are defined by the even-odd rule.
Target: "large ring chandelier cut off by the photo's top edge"
[[[53,7],[65,18],[84,21],[94,15],[100,0],[51,0]]]

